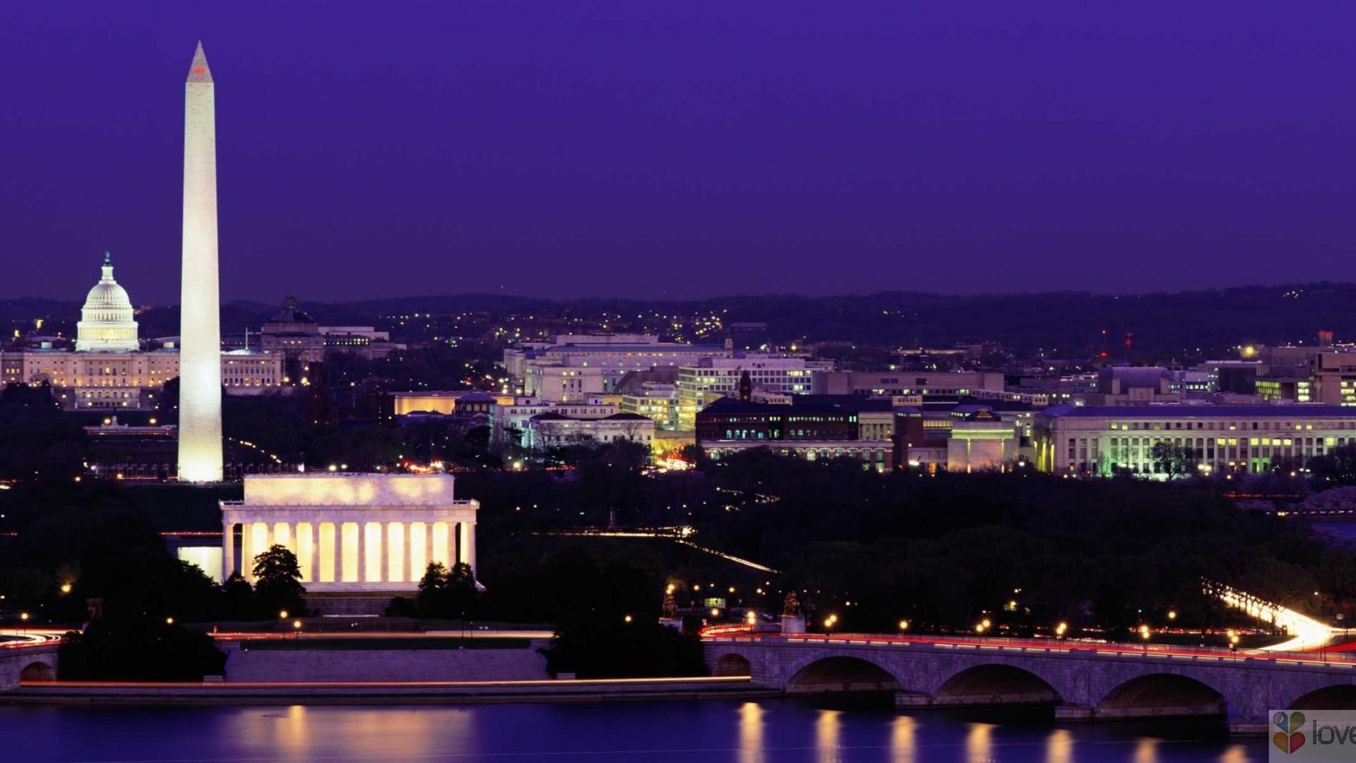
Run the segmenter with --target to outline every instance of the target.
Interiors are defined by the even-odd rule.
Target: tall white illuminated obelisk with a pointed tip
[[[202,42],[183,94],[183,272],[179,296],[179,479],[221,481],[217,115]]]

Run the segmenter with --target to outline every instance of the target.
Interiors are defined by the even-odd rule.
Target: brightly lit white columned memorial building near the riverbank
[[[430,562],[476,566],[477,501],[453,498],[446,474],[247,475],[221,501],[222,576],[247,580],[268,546],[297,555],[309,592],[401,592]],[[236,555],[236,525],[240,554]]]

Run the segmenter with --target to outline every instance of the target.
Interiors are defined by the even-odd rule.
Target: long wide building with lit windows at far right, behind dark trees
[[[1356,443],[1356,409],[1330,405],[1054,406],[1032,425],[1036,468],[1163,477],[1153,448],[1186,448],[1203,474],[1303,467]]]

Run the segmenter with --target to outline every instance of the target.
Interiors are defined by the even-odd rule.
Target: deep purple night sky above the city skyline
[[[1356,280],[1349,3],[4,3],[0,296]]]

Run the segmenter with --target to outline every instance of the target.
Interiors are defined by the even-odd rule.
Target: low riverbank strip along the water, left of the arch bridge
[[[504,682],[26,683],[11,705],[480,705],[780,696],[747,676]]]

